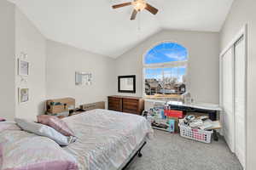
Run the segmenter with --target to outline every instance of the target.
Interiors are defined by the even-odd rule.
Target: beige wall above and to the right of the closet
[[[247,170],[256,167],[255,99],[256,99],[256,1],[235,0],[221,31],[221,49],[248,25],[247,47]]]

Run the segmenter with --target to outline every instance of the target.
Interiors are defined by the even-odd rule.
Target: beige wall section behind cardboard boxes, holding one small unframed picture
[[[76,105],[107,100],[114,93],[114,59],[47,41],[47,99],[73,97]],[[92,85],[76,86],[75,71],[92,73]]]

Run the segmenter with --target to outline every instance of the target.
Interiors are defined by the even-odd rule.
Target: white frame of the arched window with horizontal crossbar
[[[143,98],[144,99],[151,99],[151,98],[147,98],[146,97],[146,93],[145,93],[145,81],[146,81],[146,69],[156,69],[156,68],[160,68],[160,69],[164,69],[164,68],[173,68],[173,67],[178,67],[178,66],[185,66],[186,67],[186,72],[185,72],[185,76],[187,77],[187,81],[186,81],[186,91],[188,91],[188,72],[189,72],[189,50],[188,48],[186,48],[187,50],[187,60],[183,60],[183,61],[171,61],[171,62],[165,62],[165,63],[156,63],[156,64],[145,64],[145,59],[146,56],[148,54],[148,52],[152,49],[155,48],[156,46],[160,45],[161,43],[166,43],[166,42],[170,42],[170,43],[177,43],[178,45],[182,46],[183,48],[185,48],[185,46],[183,46],[181,43],[176,42],[176,41],[161,41],[161,42],[157,42],[154,43],[153,46],[151,46],[150,48],[148,48],[148,50],[146,50],[146,52],[143,54]],[[153,98],[154,99],[154,98]]]

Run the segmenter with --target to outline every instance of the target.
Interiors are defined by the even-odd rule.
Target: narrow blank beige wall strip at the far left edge
[[[15,117],[15,5],[0,1],[0,116]]]

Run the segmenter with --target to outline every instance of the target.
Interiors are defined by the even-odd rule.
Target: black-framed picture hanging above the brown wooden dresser
[[[136,93],[136,76],[119,76],[118,77],[119,93]]]

